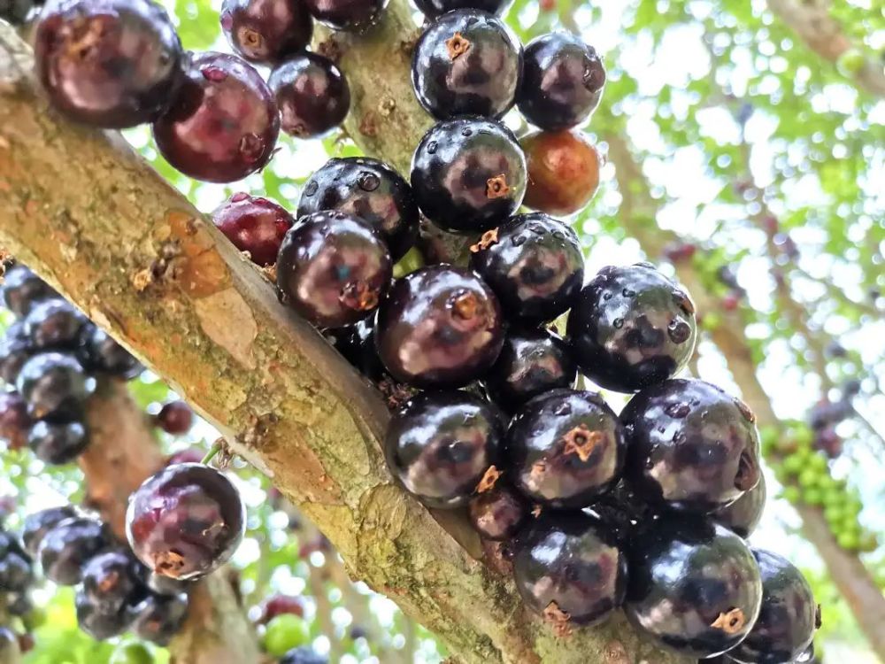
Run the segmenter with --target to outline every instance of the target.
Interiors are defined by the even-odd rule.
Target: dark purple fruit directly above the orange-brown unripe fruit
[[[599,105],[605,67],[596,50],[566,32],[528,42],[519,89],[519,112],[537,127],[554,131],[586,122]]]

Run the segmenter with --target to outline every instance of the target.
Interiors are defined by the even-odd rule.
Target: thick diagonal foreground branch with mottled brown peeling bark
[[[381,48],[374,40],[403,6],[394,3],[379,32],[352,39],[345,69],[352,62],[371,72],[359,53]],[[51,112],[30,69],[27,49],[0,36],[0,243],[271,476],[353,577],[433,629],[458,661],[687,662],[644,642],[620,616],[562,639],[527,614],[510,579],[468,554],[480,550],[475,536],[446,520],[472,539],[461,546],[391,482],[379,395],[119,135],[73,127]],[[354,70],[355,87],[357,78]],[[402,156],[382,154],[402,164]]]

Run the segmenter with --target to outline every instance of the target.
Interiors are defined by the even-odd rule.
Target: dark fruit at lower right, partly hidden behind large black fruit
[[[820,606],[789,560],[761,549],[753,555],[762,575],[762,609],[750,634],[728,656],[746,664],[789,664],[812,645]]]

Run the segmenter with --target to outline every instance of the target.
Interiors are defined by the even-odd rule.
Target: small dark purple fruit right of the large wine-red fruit
[[[338,127],[350,110],[350,87],[332,60],[299,53],[281,62],[267,80],[280,107],[282,130],[317,138]]]

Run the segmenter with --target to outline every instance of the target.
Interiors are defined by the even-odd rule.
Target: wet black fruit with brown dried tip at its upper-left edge
[[[471,251],[470,266],[512,318],[553,320],[581,290],[584,257],[578,235],[543,212],[511,217]]]

